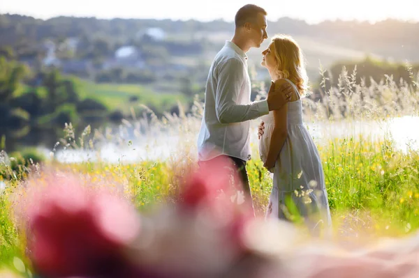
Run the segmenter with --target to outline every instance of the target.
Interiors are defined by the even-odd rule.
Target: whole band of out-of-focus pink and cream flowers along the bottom
[[[138,213],[126,186],[34,172],[10,200],[23,277],[417,277],[419,234],[369,245],[253,217],[228,161],[182,175],[172,202]],[[112,186],[110,186],[112,185]],[[356,242],[353,239],[353,242]],[[1,277],[14,276],[11,272]]]

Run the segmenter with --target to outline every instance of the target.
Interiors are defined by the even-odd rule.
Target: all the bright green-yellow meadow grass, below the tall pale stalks
[[[256,151],[256,150],[255,150]],[[419,153],[402,153],[391,141],[363,137],[331,139],[319,147],[335,231],[339,235],[404,236],[419,230]],[[86,185],[124,186],[124,193],[146,213],[155,203],[170,203],[185,173],[196,166],[190,157],[176,160],[108,164],[84,162],[51,164],[56,169],[84,176]],[[256,213],[265,213],[272,180],[260,160],[247,166]],[[47,173],[41,171],[40,181]],[[24,257],[24,242],[15,229],[8,196],[24,196],[20,180],[0,196],[0,261]],[[38,186],[39,184],[37,184]]]

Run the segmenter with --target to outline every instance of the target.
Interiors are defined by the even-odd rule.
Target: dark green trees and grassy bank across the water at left
[[[125,82],[135,78],[127,75]],[[73,123],[78,131],[87,124],[98,128],[109,120],[120,123],[122,118],[131,117],[127,104],[147,105],[161,116],[163,111],[172,111],[177,100],[186,102],[179,94],[155,95],[131,84],[94,84],[64,77],[57,69],[30,75],[24,65],[4,57],[0,57],[0,97],[0,135],[6,138],[9,151],[18,144],[53,146],[65,123]]]

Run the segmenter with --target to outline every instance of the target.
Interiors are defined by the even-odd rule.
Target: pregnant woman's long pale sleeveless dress
[[[266,217],[287,219],[298,212],[311,231],[328,228],[332,224],[328,194],[320,155],[313,139],[302,121],[302,101],[295,84],[286,79],[298,95],[298,100],[288,102],[288,136],[271,171],[273,186]],[[274,114],[262,117],[265,132],[260,139],[260,158],[265,162],[274,130]],[[288,206],[289,201],[295,206]],[[293,209],[294,208],[294,209]]]

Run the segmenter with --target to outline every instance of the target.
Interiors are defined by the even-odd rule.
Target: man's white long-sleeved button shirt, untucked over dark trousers
[[[250,102],[247,55],[227,41],[212,62],[205,90],[198,160],[228,155],[250,160],[250,121],[269,114],[267,100]]]

